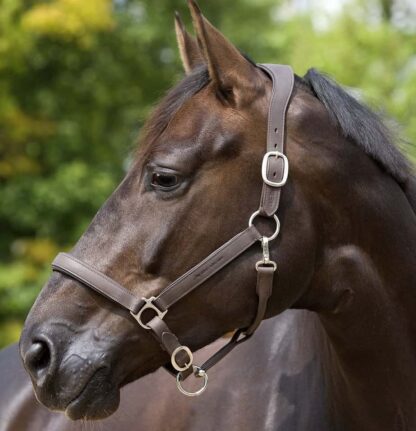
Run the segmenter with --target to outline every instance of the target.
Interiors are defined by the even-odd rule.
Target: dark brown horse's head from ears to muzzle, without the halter
[[[189,4],[198,42],[176,17],[186,76],[155,109],[126,177],[71,252],[137,297],[157,296],[241,231],[261,193],[271,80]],[[316,160],[302,142],[306,126],[319,135],[330,133],[327,123],[326,110],[297,83],[267,317],[301,301],[311,281],[316,230],[306,197]],[[166,322],[191,350],[250,325],[259,252],[244,252],[169,310]],[[73,419],[110,415],[121,386],[168,361],[127,311],[58,272],[27,317],[20,349],[40,402]]]

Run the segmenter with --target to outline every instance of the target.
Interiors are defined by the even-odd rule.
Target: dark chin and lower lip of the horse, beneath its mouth
[[[65,415],[72,420],[96,420],[112,415],[120,404],[120,389],[107,377],[107,373],[98,370],[66,406]]]

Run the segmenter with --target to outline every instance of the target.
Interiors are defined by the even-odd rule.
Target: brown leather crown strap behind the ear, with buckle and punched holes
[[[269,105],[267,124],[267,152],[284,153],[286,111],[293,92],[294,75],[290,66],[282,64],[259,64],[272,79],[273,90]],[[280,157],[268,157],[267,179],[276,182],[283,178],[284,161]],[[271,217],[277,211],[280,202],[281,187],[263,183],[259,214]]]

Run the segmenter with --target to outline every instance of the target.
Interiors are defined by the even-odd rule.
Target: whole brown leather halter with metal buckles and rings
[[[70,254],[59,253],[52,262],[54,271],[59,271],[72,277],[128,309],[142,328],[150,330],[161,347],[171,357],[171,364],[165,366],[165,368],[176,374],[179,390],[189,396],[201,394],[208,382],[206,371],[234,347],[251,337],[265,316],[267,302],[272,293],[276,263],[270,260],[269,242],[279,234],[280,222],[276,211],[279,207],[281,188],[285,185],[289,173],[289,163],[283,150],[286,110],[293,91],[294,75],[290,66],[278,64],[259,64],[258,66],[271,77],[273,90],[268,113],[267,152],[263,157],[261,170],[263,190],[260,206],[250,217],[246,229],[168,285],[157,297],[138,298],[116,281]],[[261,235],[253,225],[253,221],[258,215],[274,219],[276,229],[272,236]],[[256,292],[259,299],[256,316],[248,328],[236,330],[228,344],[204,364],[196,366],[193,364],[191,350],[180,344],[178,338],[172,333],[163,318],[171,306],[236,259],[256,241],[261,241],[263,250],[263,259],[255,264],[257,271]],[[154,317],[143,321],[143,312],[145,310],[153,311]],[[181,385],[181,381],[192,373],[195,377],[204,379],[202,387],[196,392],[188,392]]]

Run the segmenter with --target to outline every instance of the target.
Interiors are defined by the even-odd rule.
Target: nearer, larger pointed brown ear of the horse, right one
[[[227,99],[238,98],[243,89],[247,95],[247,90],[255,89],[258,83],[258,68],[202,15],[194,0],[188,0],[188,5],[211,80]]]

